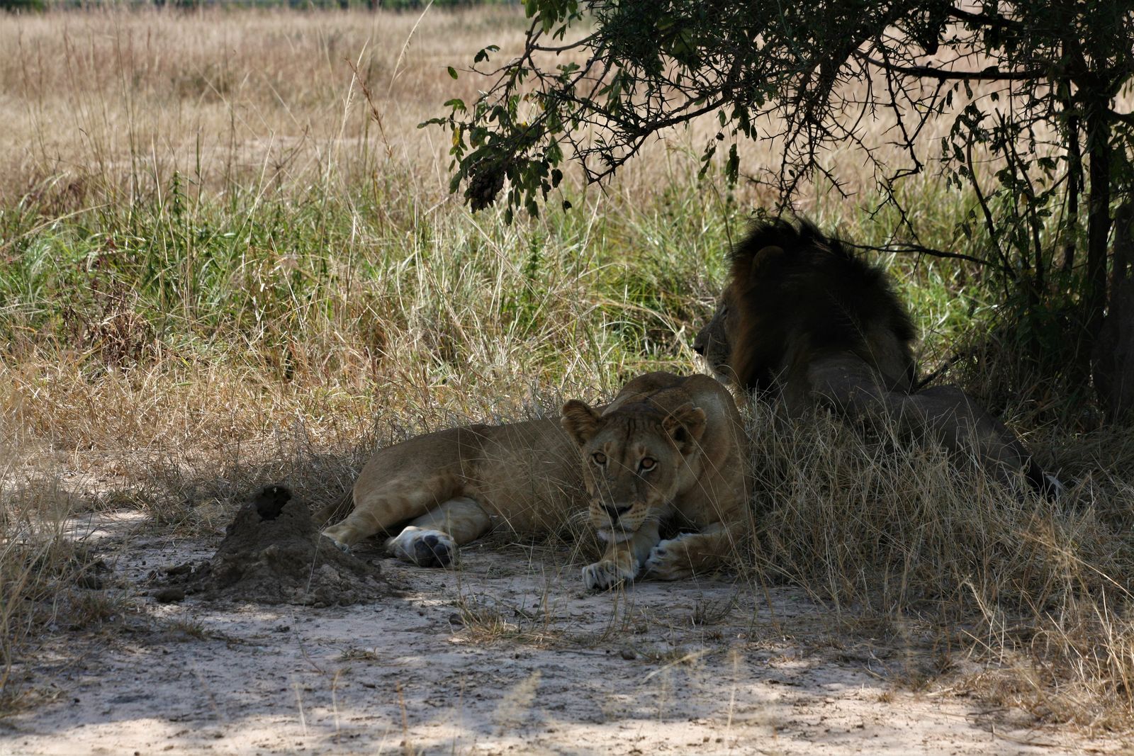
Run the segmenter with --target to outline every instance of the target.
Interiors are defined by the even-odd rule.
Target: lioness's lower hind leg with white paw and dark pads
[[[490,527],[489,515],[476,500],[458,496],[413,520],[386,545],[405,562],[447,567],[457,546],[475,541]]]

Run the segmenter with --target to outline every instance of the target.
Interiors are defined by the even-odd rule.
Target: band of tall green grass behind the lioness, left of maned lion
[[[122,366],[161,352],[281,377],[316,358],[339,374],[363,358],[443,374],[469,348],[505,349],[514,372],[553,383],[579,348],[594,366],[688,359],[675,332],[704,317],[727,246],[720,223],[689,239],[601,199],[601,213],[513,227],[492,213],[391,218],[397,199],[188,202],[175,176],[162,202],[65,220],[25,201],[0,218],[0,338],[12,355],[53,345]],[[411,331],[421,338],[399,343]]]

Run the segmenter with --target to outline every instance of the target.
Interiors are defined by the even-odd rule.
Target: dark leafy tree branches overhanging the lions
[[[490,86],[429,121],[452,131],[451,188],[473,210],[503,194],[509,221],[514,209],[536,214],[565,162],[602,181],[659,131],[704,117],[719,127],[704,165],[722,158],[730,180],[773,182],[784,207],[816,175],[841,187],[822,158],[850,143],[903,210],[895,187],[928,169],[926,126],[948,118],[931,170],[971,186],[976,206],[958,222],[987,232],[981,262],[1033,297],[1053,274],[1074,278],[1097,329],[1112,207],[1132,181],[1134,113],[1119,101],[1134,75],[1134,0],[527,0],[525,9],[523,52],[498,65],[498,48],[481,50],[472,68]],[[871,128],[879,116],[894,124],[885,134]],[[742,165],[737,141],[769,137],[782,147],[778,164]],[[992,186],[979,180],[974,148],[996,161]],[[896,235],[916,241],[899,218]],[[1109,262],[1117,278],[1131,264]]]

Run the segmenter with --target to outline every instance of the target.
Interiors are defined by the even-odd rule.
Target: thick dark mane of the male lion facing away
[[[883,374],[899,364],[905,375],[885,375],[890,382],[913,381],[909,315],[885,271],[838,239],[806,221],[764,221],[733,249],[731,265],[744,331],[733,343],[733,366],[745,388],[771,389],[796,352],[848,350]]]

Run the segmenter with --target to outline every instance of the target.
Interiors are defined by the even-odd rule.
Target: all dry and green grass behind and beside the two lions
[[[447,194],[448,145],[416,125],[473,96],[476,82],[454,82],[447,65],[492,42],[506,53],[522,27],[509,9],[0,25],[0,49],[17,51],[0,57],[5,670],[51,637],[53,618],[115,613],[60,591],[88,569],[65,535],[77,509],[210,530],[270,481],[332,499],[374,444],[689,369],[720,250],[768,197],[696,182],[695,127],[568,215],[507,228],[468,215]],[[747,148],[759,159],[773,146]],[[866,185],[854,155],[831,160]],[[948,246],[965,199],[931,178],[909,190]],[[886,236],[885,216],[821,187],[801,207]],[[967,317],[956,270],[903,269],[931,331]],[[759,532],[741,571],[755,591],[804,586],[848,631],[936,623],[953,653],[991,664],[958,687],[1128,727],[1134,443],[1058,427],[1023,428],[1076,482],[1050,504],[1006,496],[885,428],[796,426],[755,407]],[[459,611],[486,637],[548,642],[540,617],[475,601]],[[0,711],[23,689],[9,682]]]

